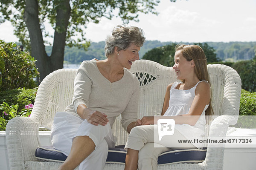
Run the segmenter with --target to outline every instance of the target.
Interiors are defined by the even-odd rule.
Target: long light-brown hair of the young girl
[[[182,52],[182,55],[184,58],[186,58],[187,61],[194,60],[195,63],[195,75],[198,77],[200,81],[208,81],[209,84],[209,74],[207,70],[207,59],[204,54],[204,50],[197,45],[184,45],[184,44],[178,44],[175,47],[175,51]],[[181,80],[184,83],[184,80]],[[211,98],[212,98],[212,90],[211,90]],[[213,109],[211,104],[211,99],[209,102],[209,107],[205,111],[205,115],[213,115]]]

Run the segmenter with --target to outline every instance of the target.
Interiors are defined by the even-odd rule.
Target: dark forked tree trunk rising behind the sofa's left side
[[[63,68],[66,33],[71,9],[69,0],[61,0],[59,2],[59,6],[61,7],[59,7],[57,11],[52,55],[49,57],[45,51],[44,40],[38,19],[38,1],[26,0],[25,2],[26,7],[23,19],[26,22],[29,31],[31,56],[37,60],[36,66],[40,73],[41,82],[47,75],[49,75],[49,73]]]

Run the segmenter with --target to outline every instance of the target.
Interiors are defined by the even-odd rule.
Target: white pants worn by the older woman
[[[69,113],[57,112],[52,125],[52,146],[68,156],[73,138],[76,136],[89,136],[96,146],[95,150],[81,162],[79,170],[103,170],[108,147],[115,145],[110,124],[95,126]]]

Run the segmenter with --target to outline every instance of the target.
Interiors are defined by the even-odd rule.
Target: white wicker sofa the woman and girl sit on
[[[241,79],[238,73],[225,65],[208,65],[212,88],[212,106],[215,115],[209,127],[209,137],[223,137],[230,124],[236,124],[233,116],[239,114]],[[163,106],[166,87],[177,81],[171,67],[159,63],[139,60],[131,68],[140,81],[140,102],[138,117],[159,115]],[[71,103],[73,81],[76,69],[60,69],[49,74],[40,84],[35,105],[29,118],[13,118],[6,127],[6,144],[11,170],[55,170],[60,162],[42,162],[35,158],[35,150],[41,146],[38,130],[51,130],[56,112],[63,111]],[[113,134],[118,138],[116,145],[125,144],[128,134],[116,117]],[[221,170],[223,168],[223,147],[209,147],[206,157],[200,163],[172,163],[158,165],[157,170]],[[123,170],[124,164],[108,163],[104,170]]]

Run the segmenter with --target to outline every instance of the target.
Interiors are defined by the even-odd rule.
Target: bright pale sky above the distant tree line
[[[146,40],[161,42],[256,41],[256,0],[160,0],[156,11],[158,15],[140,13],[140,22],[127,25],[142,28]],[[85,37],[104,41],[118,24],[122,24],[118,17],[89,23]],[[53,34],[53,29],[46,27]],[[18,41],[9,22],[0,24],[0,39]]]

